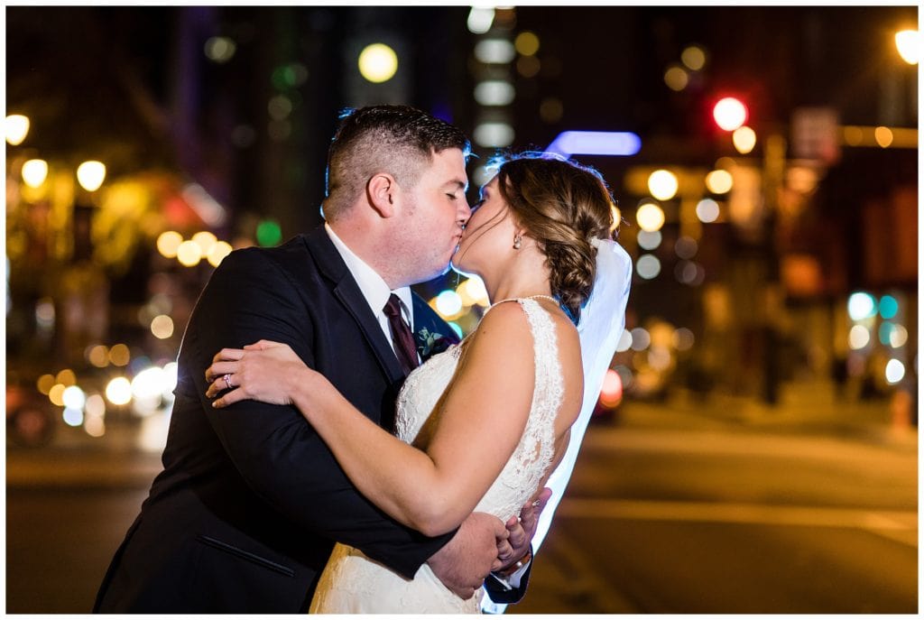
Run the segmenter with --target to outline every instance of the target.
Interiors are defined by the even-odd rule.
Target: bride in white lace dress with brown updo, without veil
[[[223,349],[207,376],[213,401],[294,405],[346,475],[389,516],[434,536],[473,511],[517,515],[565,454],[584,396],[576,325],[590,297],[613,200],[602,178],[572,161],[508,157],[481,188],[453,259],[492,299],[478,328],[413,371],[398,396],[397,436],[353,407],[285,345]],[[599,311],[599,310],[597,310]],[[490,441],[485,441],[489,438]],[[408,580],[337,544],[310,611],[478,613],[428,565]]]

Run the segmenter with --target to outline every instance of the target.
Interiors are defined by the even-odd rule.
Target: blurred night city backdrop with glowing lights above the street
[[[601,416],[821,386],[917,424],[918,45],[915,6],[7,7],[7,441],[156,450],[201,287],[322,222],[369,103],[463,128],[472,199],[497,149],[638,138],[567,153],[637,272]],[[460,333],[488,303],[418,290]]]

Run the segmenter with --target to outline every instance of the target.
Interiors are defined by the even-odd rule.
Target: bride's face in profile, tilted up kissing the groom
[[[481,188],[481,200],[472,208],[452,265],[463,274],[484,274],[513,250],[517,234],[513,216],[497,189],[497,177]]]

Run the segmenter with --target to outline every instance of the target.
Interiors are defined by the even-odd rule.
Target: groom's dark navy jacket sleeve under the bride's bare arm
[[[284,271],[260,251],[233,252],[213,273],[190,318],[178,389],[196,391],[227,456],[275,510],[413,577],[455,532],[428,538],[387,517],[346,479],[295,407],[246,400],[215,409],[205,396],[205,370],[222,348],[274,340],[314,367],[311,332],[302,297]]]

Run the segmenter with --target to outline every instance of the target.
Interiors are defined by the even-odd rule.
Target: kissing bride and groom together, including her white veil
[[[469,207],[469,151],[414,108],[349,111],[325,224],[214,271],[183,337],[164,470],[94,612],[479,613],[522,598],[631,265],[596,172],[510,156]],[[461,341],[409,288],[450,264],[492,302]]]

